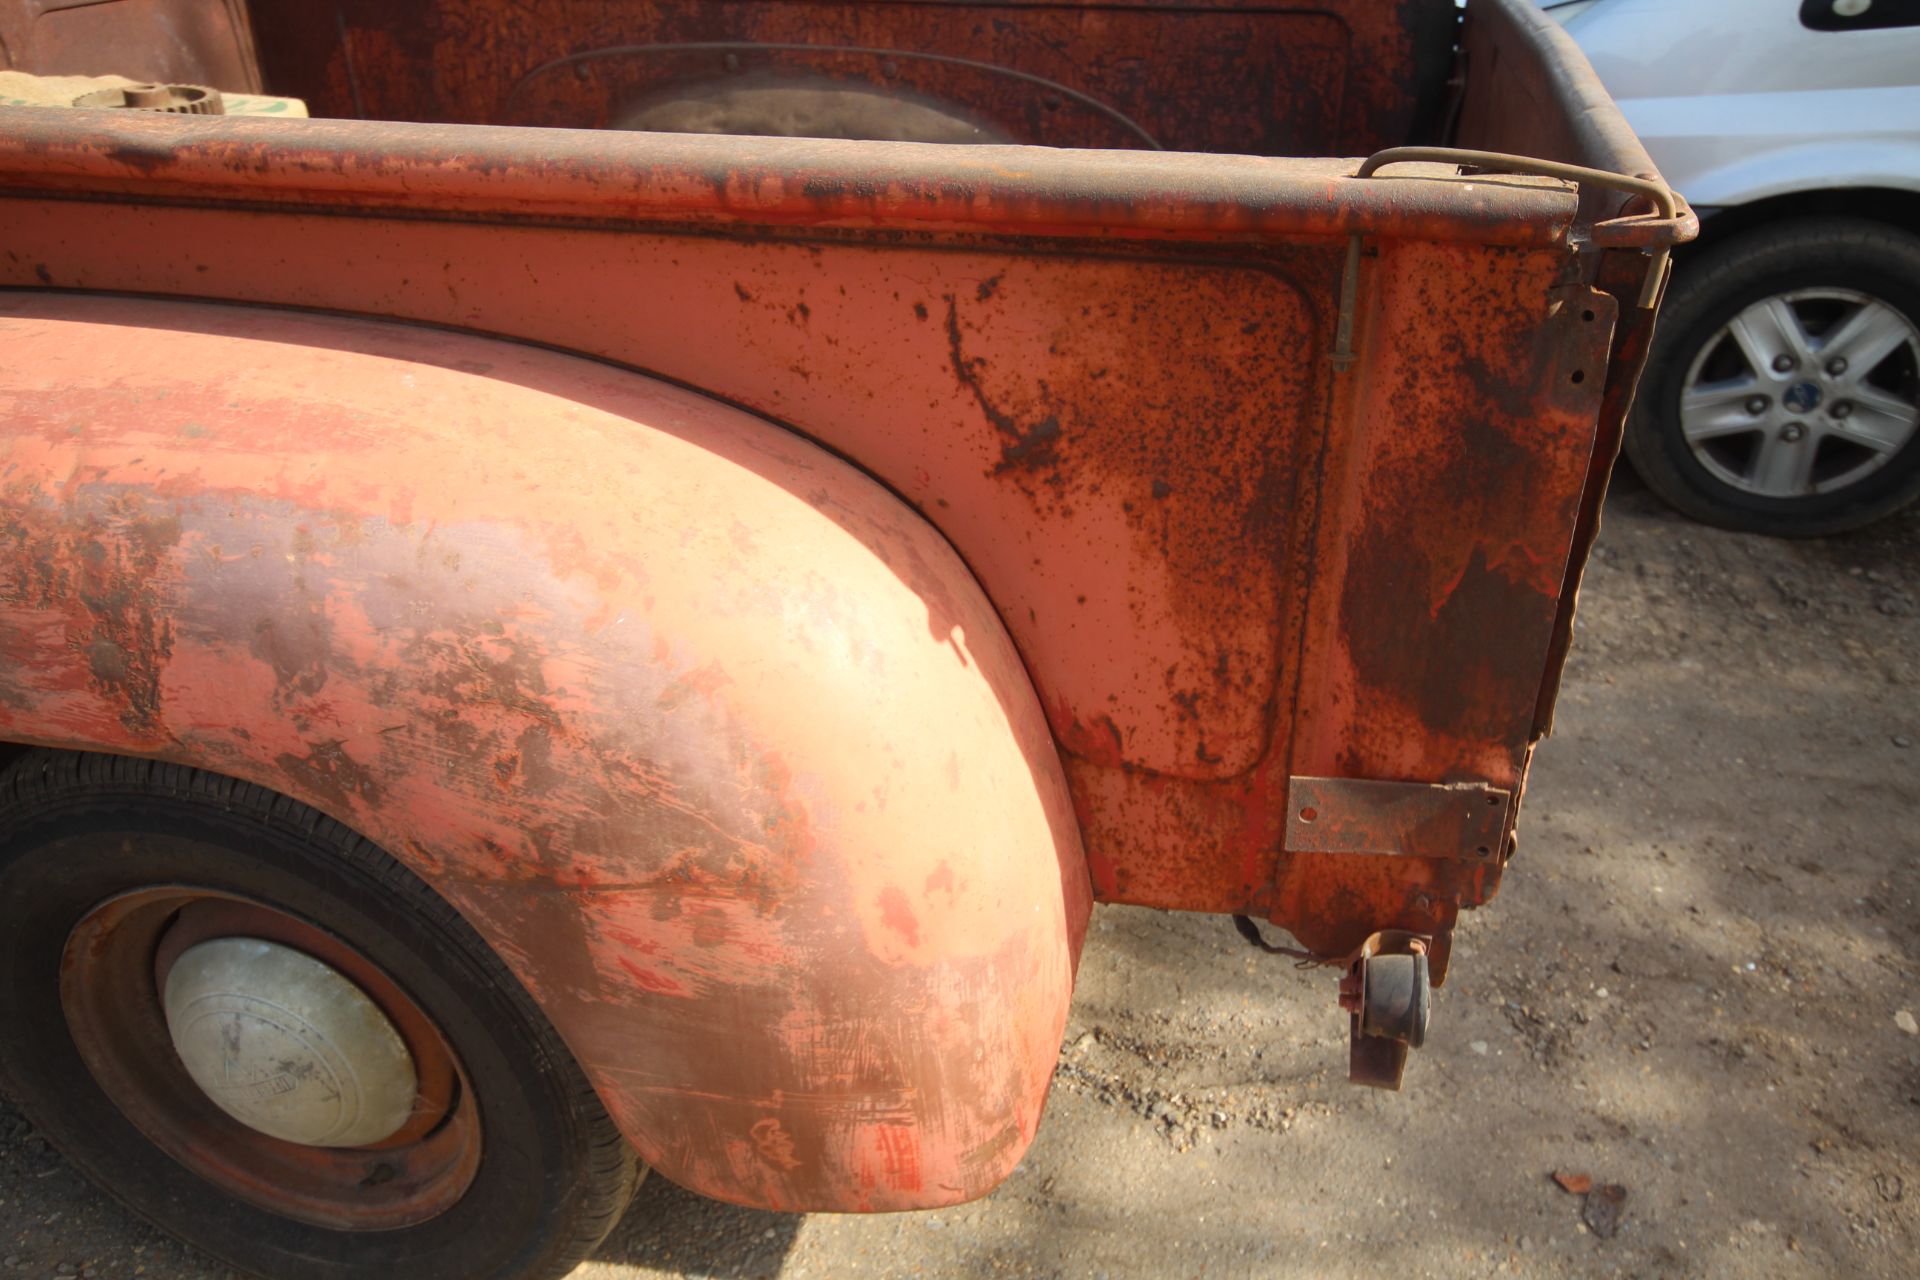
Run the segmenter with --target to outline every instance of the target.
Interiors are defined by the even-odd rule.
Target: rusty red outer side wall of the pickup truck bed
[[[1523,773],[1603,395],[1597,378],[1569,378],[1607,365],[1615,319],[1611,299],[1551,294],[1571,261],[1553,238],[1576,213],[1557,182],[348,121],[113,119],[67,144],[63,125],[21,113],[0,138],[0,173],[56,188],[0,207],[13,249],[0,280],[484,326],[701,388],[860,459],[998,606],[1106,900],[1269,912],[1290,773],[1498,787]],[[829,180],[866,155],[883,180]],[[722,157],[733,178],[716,190],[705,175]],[[165,200],[127,203],[129,190]],[[818,225],[780,226],[803,217]],[[964,219],[985,230],[956,228]],[[1356,376],[1336,378],[1327,299],[1356,226],[1382,234],[1367,278],[1396,280],[1392,297],[1419,311],[1380,324]],[[1588,309],[1596,322],[1580,320]],[[1500,654],[1473,658],[1500,712],[1446,700],[1455,676],[1398,628],[1369,622],[1377,635],[1321,637],[1294,656],[1306,628],[1346,626],[1308,620],[1342,589],[1336,574],[1292,568],[1319,562],[1319,539],[1357,537],[1380,503],[1409,528],[1446,520],[1411,480],[1379,497],[1342,487],[1338,503],[1313,491],[1323,466],[1407,455],[1405,415],[1336,393],[1388,367],[1411,370],[1407,393],[1434,407],[1417,418],[1434,449],[1461,453],[1461,422],[1519,441],[1484,478],[1511,487],[1500,510],[1517,524],[1482,532],[1482,568],[1519,572],[1524,595],[1457,614],[1480,637],[1459,637],[1463,656]],[[1427,386],[1438,368],[1452,372]],[[1357,413],[1380,416],[1361,430]],[[1338,457],[1323,457],[1329,438]],[[1524,570],[1515,537],[1544,539],[1528,541]],[[1455,585],[1425,581],[1421,608]],[[1327,666],[1323,649],[1402,641],[1405,654],[1357,674]],[[1352,685],[1363,704],[1334,693]],[[1423,737],[1430,689],[1448,710]],[[1365,720],[1373,704],[1400,708],[1390,733]],[[1309,750],[1296,747],[1300,706]],[[1373,867],[1350,864],[1321,869],[1332,898],[1290,898],[1313,917],[1284,923],[1317,950],[1344,954],[1379,927],[1365,900],[1438,927],[1453,898],[1478,902],[1498,883],[1473,869],[1457,890],[1417,883],[1380,902],[1340,896],[1346,877],[1379,890]]]

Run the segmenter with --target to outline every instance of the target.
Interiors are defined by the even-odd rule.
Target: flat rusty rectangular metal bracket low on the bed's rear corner
[[[1494,862],[1513,793],[1488,783],[1286,779],[1286,852]]]

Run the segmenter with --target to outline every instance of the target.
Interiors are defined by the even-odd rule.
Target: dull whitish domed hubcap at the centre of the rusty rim
[[[330,965],[278,942],[213,938],[167,971],[167,1031],[227,1115],[284,1142],[353,1148],[413,1113],[413,1057],[386,1013]]]

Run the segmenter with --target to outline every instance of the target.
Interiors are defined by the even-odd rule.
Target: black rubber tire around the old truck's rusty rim
[[[61,954],[102,900],[169,883],[298,913],[432,1019],[484,1136],[457,1201],[396,1230],[317,1226],[227,1194],[129,1121],[69,1032]],[[301,804],[180,766],[35,750],[0,773],[0,1084],[73,1165],[161,1230],[271,1280],[559,1276],[643,1173],[553,1027],[424,883]]]

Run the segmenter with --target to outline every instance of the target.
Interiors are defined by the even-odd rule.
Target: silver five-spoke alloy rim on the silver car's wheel
[[[1763,297],[1693,357],[1680,430],[1716,480],[1805,497],[1880,470],[1920,426],[1920,328],[1851,290]]]

